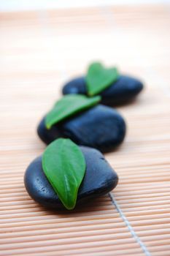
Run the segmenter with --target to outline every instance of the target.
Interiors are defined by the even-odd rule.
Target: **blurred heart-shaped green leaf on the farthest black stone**
[[[94,62],[88,67],[86,84],[88,95],[93,96],[115,83],[119,73],[115,67],[106,69],[100,62]]]

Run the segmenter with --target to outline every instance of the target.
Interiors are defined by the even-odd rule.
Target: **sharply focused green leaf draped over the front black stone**
[[[76,205],[85,168],[82,151],[69,139],[53,141],[42,155],[42,169],[61,202],[69,210]]]

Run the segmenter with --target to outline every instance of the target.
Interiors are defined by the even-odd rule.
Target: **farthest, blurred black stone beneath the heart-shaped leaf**
[[[120,78],[109,88],[101,92],[101,103],[104,105],[123,105],[131,102],[143,89],[143,84],[136,78],[120,75]],[[63,86],[63,94],[86,94],[85,77],[74,78]]]

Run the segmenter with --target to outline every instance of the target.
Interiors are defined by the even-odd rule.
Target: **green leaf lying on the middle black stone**
[[[93,107],[101,100],[100,96],[88,98],[81,94],[69,94],[64,96],[58,102],[45,118],[45,125],[50,129],[53,124],[62,121],[65,118],[73,116],[82,110]]]

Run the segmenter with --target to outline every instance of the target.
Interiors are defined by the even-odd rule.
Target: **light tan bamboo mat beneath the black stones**
[[[169,15],[163,5],[0,14],[0,255],[170,255]],[[145,83],[118,109],[125,142],[105,155],[120,182],[72,213],[47,211],[23,185],[45,148],[36,125],[98,59]]]

